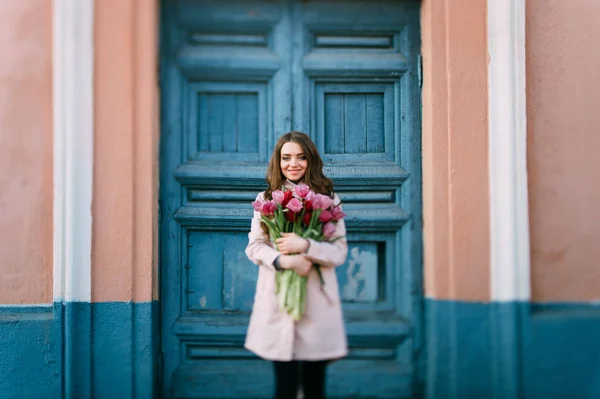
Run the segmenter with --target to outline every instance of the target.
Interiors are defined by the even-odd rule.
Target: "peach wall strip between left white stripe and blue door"
[[[95,2],[93,302],[157,298],[156,3]]]

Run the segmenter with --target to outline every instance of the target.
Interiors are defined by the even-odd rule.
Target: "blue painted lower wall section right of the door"
[[[426,301],[428,398],[600,398],[600,306]]]

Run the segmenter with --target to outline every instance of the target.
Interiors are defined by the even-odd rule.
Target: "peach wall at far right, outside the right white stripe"
[[[526,13],[533,300],[600,300],[600,2]]]

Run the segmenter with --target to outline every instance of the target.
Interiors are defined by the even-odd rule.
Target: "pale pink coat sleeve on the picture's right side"
[[[334,203],[339,203],[340,200],[335,196]],[[331,236],[333,242],[319,242],[309,239],[310,245],[306,251],[306,258],[324,267],[335,267],[343,265],[348,256],[348,243],[346,242],[346,225],[344,219],[337,221],[335,232]]]

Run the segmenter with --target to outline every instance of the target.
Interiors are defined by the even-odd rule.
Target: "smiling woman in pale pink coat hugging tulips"
[[[335,205],[340,203],[331,180],[323,174],[317,148],[304,133],[290,132],[279,138],[266,179],[269,187],[258,194],[259,201],[270,200],[271,193],[282,186],[294,190],[302,182],[315,193],[333,198]],[[259,266],[259,272],[245,347],[273,362],[278,399],[295,398],[299,386],[306,399],[324,398],[327,364],[348,353],[335,274],[335,267],[343,264],[348,254],[345,234],[340,219],[332,242],[286,233],[277,239],[275,249],[261,227],[260,214],[254,212],[246,255]],[[323,287],[313,263],[321,265]],[[280,312],[277,304],[275,274],[283,269],[308,276],[306,309],[299,321]]]

